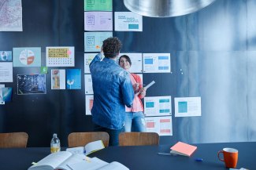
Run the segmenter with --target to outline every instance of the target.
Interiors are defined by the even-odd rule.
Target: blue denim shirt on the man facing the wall
[[[128,72],[115,60],[99,53],[90,63],[94,103],[92,121],[104,128],[121,129],[124,126],[125,107],[131,107],[134,99],[132,82]]]

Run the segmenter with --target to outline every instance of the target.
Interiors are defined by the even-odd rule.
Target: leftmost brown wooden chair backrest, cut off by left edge
[[[26,147],[28,134],[26,132],[0,133],[0,148]]]

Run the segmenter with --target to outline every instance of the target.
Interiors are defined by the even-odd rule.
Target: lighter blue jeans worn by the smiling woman
[[[126,112],[124,132],[146,132],[145,118],[142,111]]]

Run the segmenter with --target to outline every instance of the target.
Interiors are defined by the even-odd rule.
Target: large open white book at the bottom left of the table
[[[86,157],[83,154],[72,154],[67,151],[60,151],[44,157],[41,161],[28,168],[28,170],[72,170],[67,165],[88,161],[89,159],[90,157]]]

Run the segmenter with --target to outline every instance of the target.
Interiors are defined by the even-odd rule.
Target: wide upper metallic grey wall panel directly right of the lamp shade
[[[187,37],[187,50],[246,50],[246,1],[217,0],[206,9],[188,15]]]

